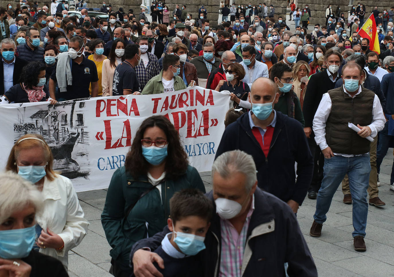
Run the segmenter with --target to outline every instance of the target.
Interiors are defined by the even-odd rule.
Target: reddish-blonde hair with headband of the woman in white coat
[[[25,138],[35,138],[35,139],[25,139]],[[52,165],[53,165],[52,151],[50,150],[48,144],[45,142],[44,138],[36,134],[26,134],[17,140],[17,142],[12,147],[11,152],[9,153],[6,170],[17,173],[18,172],[17,158],[19,156],[20,150],[30,149],[33,147],[41,147],[43,149],[45,160],[48,163],[45,167],[46,178],[48,178],[48,180],[50,181],[53,181],[56,172],[52,169]]]

